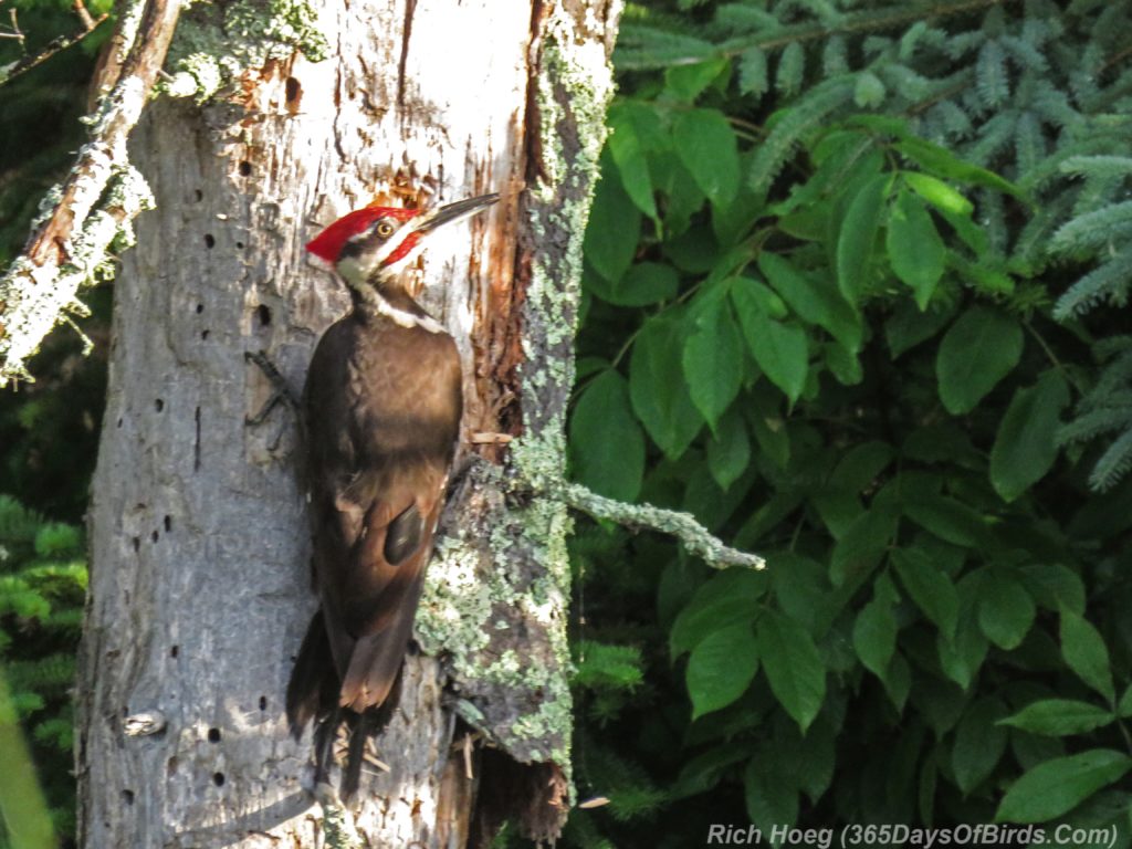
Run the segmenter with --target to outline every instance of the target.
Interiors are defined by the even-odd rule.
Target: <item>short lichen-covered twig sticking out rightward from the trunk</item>
[[[627,504],[599,496],[581,483],[565,483],[560,497],[571,507],[589,513],[594,518],[608,518],[626,528],[646,528],[678,539],[693,555],[715,568],[744,566],[748,569],[766,568],[766,560],[723,544],[712,537],[691,513],[662,509],[650,504]]]

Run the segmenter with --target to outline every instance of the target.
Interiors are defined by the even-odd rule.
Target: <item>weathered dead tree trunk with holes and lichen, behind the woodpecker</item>
[[[391,769],[363,783],[358,826],[370,846],[455,848],[480,844],[500,816],[537,837],[560,825],[568,521],[543,492],[563,470],[617,11],[326,2],[328,60],[272,60],[224,100],[151,105],[131,151],[158,209],[139,220],[117,283],[91,509],[85,847],[325,837],[305,789],[309,740],[293,743],[282,715],[315,604],[294,419],[278,408],[246,424],[271,387],[245,353],[266,351],[301,386],[348,303],[302,246],[375,194],[504,200],[426,257],[424,303],[464,354],[465,445],[490,464],[449,511],[418,628],[429,653],[410,658],[378,743]],[[192,7],[178,37],[215,29],[209,14]],[[508,449],[482,436],[499,432],[521,438]],[[507,498],[516,486],[526,495]]]

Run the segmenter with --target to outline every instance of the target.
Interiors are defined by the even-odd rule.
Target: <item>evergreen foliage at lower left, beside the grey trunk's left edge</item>
[[[0,661],[60,834],[75,832],[71,688],[86,581],[79,529],[0,495]]]

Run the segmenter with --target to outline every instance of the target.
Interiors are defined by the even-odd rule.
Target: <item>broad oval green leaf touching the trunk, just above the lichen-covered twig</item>
[[[599,495],[635,500],[644,475],[644,435],[629,408],[625,378],[612,369],[585,387],[569,426],[576,479]]]

